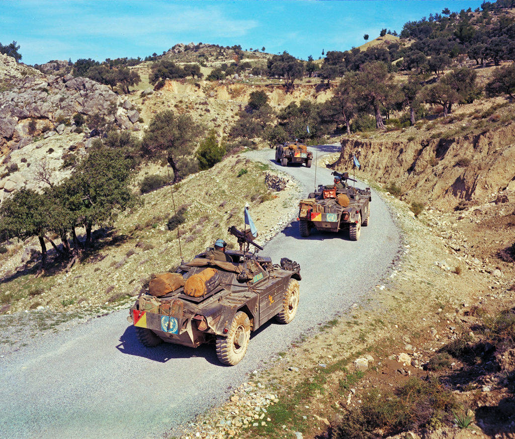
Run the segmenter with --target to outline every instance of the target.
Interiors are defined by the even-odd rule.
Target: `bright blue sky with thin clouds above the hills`
[[[483,0],[0,0],[0,43],[20,45],[22,62],[145,58],[177,43],[240,44],[318,59],[401,32],[407,21]]]

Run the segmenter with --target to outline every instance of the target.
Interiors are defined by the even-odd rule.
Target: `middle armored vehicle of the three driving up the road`
[[[356,181],[349,178],[347,172],[340,174],[342,180]],[[336,189],[319,185],[316,192],[308,195],[299,203],[299,231],[301,236],[309,236],[313,229],[330,232],[349,230],[351,241],[357,241],[361,235],[361,226],[368,226],[370,221],[370,188],[358,189],[348,186]]]

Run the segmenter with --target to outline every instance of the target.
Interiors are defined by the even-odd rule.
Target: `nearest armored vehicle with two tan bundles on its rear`
[[[128,317],[143,345],[214,343],[218,359],[234,365],[245,356],[252,331],[272,317],[280,323],[294,319],[300,265],[287,258],[272,264],[271,258],[257,255],[263,248],[250,232],[234,226],[229,232],[239,243],[239,250],[226,251],[233,262],[217,261],[207,249],[181,263],[177,272],[150,281]]]

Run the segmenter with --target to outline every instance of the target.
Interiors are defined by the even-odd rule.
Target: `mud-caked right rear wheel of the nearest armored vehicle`
[[[216,336],[216,356],[224,364],[238,364],[247,352],[249,340],[249,318],[243,311],[238,311],[232,319],[227,337]]]

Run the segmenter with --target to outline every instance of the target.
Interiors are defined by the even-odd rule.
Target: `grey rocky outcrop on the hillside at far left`
[[[71,75],[43,75],[32,68],[30,75],[23,75],[12,62],[0,58],[0,79],[10,78],[11,85],[0,93],[0,151],[19,149],[27,138],[74,132],[76,114],[104,117],[122,130],[140,129],[139,112],[107,85]],[[62,67],[61,62],[49,64],[49,69]],[[89,132],[87,127],[81,130]]]

